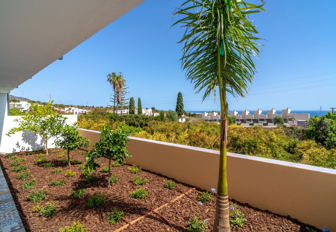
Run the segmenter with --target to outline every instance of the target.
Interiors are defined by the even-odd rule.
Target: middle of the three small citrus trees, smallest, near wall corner
[[[90,140],[83,138],[77,130],[77,122],[73,125],[66,124],[59,132],[57,139],[53,144],[62,149],[67,149],[68,164],[70,164],[70,152],[76,150],[76,148],[88,148],[90,146]]]

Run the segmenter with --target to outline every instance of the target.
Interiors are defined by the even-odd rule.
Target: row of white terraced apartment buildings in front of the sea
[[[242,111],[242,114],[238,114],[237,111],[230,112],[231,117],[236,117],[236,121],[240,123],[272,123],[274,118],[277,116],[282,117],[286,122],[298,124],[298,121],[307,121],[309,120],[309,114],[308,113],[291,113],[291,110],[289,108],[283,109],[281,114],[277,114],[275,109],[267,110],[267,114],[262,114],[262,111],[260,109],[253,112],[254,114],[250,114],[250,111],[245,110]],[[202,114],[202,120],[208,121],[208,122],[219,122],[220,121],[220,115],[217,112],[207,113],[204,112]]]

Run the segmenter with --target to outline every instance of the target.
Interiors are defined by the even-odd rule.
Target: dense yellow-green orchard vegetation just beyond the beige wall
[[[325,118],[328,117],[330,116]],[[153,119],[146,115],[117,115],[102,112],[78,117],[78,125],[84,129],[100,130],[103,124],[109,122],[112,122],[112,129],[128,130],[130,135],[135,137],[213,150],[219,150],[220,146],[220,125],[217,123],[204,121],[179,123],[167,119],[159,121],[158,117]],[[237,126],[233,122],[234,120],[229,121],[227,131],[229,152],[336,169],[336,149],[324,146],[322,141],[314,141],[311,137],[303,140],[302,129],[296,126],[265,129],[262,126]],[[308,131],[312,130],[309,129],[311,127],[313,124],[306,131],[307,137],[310,133]]]

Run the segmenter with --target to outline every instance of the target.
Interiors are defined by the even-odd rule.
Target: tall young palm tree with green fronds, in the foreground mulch
[[[262,0],[261,0],[262,2]],[[219,91],[221,124],[216,216],[213,232],[230,231],[226,181],[227,95],[245,97],[256,70],[252,57],[259,57],[258,33],[249,15],[264,10],[244,0],[188,0],[174,13],[182,18],[185,33],[181,58],[186,79],[203,100]]]

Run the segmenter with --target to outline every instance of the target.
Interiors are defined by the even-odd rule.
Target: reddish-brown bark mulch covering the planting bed
[[[56,149],[51,149],[56,150]],[[12,167],[9,166],[12,160],[8,157],[0,157],[0,165],[7,180],[8,186],[11,190],[16,207],[21,216],[22,222],[26,231],[57,231],[61,227],[69,226],[74,221],[79,220],[89,231],[114,231],[123,225],[125,222],[120,221],[114,225],[110,225],[105,218],[109,209],[116,207],[119,210],[123,210],[125,218],[128,221],[133,221],[138,217],[148,213],[149,211],[140,209],[139,206],[143,206],[149,209],[156,209],[161,205],[166,204],[165,201],[158,198],[165,199],[167,201],[176,198],[182,193],[177,190],[169,190],[164,188],[163,185],[170,178],[156,174],[150,171],[142,170],[139,172],[139,176],[143,179],[148,179],[148,183],[143,186],[135,186],[129,182],[130,178],[134,177],[134,174],[128,170],[128,165],[113,167],[112,173],[120,175],[118,182],[111,184],[112,189],[107,189],[107,173],[100,172],[100,168],[96,171],[98,179],[87,184],[85,182],[82,170],[79,169],[79,165],[72,165],[72,171],[77,172],[75,177],[65,177],[65,172],[69,169],[67,163],[61,162],[65,158],[56,158],[63,150],[58,149],[58,153],[49,153],[47,162],[53,162],[55,167],[61,167],[63,170],[60,173],[52,173],[54,168],[44,168],[42,164],[35,164],[36,156],[28,155],[27,152],[16,153],[19,158],[26,158],[27,161],[21,162],[24,165],[29,165],[27,171],[31,171],[32,176],[24,180],[17,180],[16,175],[18,173],[12,172]],[[71,154],[76,160],[81,160],[84,163],[84,156],[81,155],[82,151],[78,150]],[[40,152],[35,152],[39,154]],[[45,152],[42,152],[45,153]],[[106,159],[101,159],[100,166],[108,166]],[[21,189],[25,180],[31,180],[36,178],[36,185],[33,188]],[[65,178],[64,186],[49,186],[51,180],[59,181]],[[186,192],[192,189],[194,186],[177,182],[177,188]],[[144,199],[133,199],[129,197],[129,193],[138,189],[145,188],[148,192],[148,196]],[[84,197],[77,198],[71,195],[71,190],[78,188],[87,188]],[[49,194],[43,201],[32,203],[28,201],[26,196],[31,190],[48,189]],[[107,201],[100,207],[88,209],[85,205],[88,197],[94,194],[96,191],[101,191],[108,196]],[[196,206],[199,195],[199,189],[194,190],[188,194],[176,200],[171,205],[164,207],[158,212],[162,214],[174,227],[174,231],[187,231],[188,222],[191,221],[196,215]],[[192,199],[191,199],[192,198]],[[58,201],[58,210],[56,215],[44,218],[37,212],[33,211],[33,207],[37,204],[45,205],[45,203],[51,199]],[[236,203],[236,208],[240,210],[246,217],[247,223],[243,228],[232,226],[232,231],[307,231],[308,226],[311,229],[321,231],[313,226],[309,226],[298,222],[295,219],[289,217],[279,216],[272,214],[268,211],[262,211],[253,208],[247,204],[241,204],[231,200],[230,203]],[[200,220],[208,220],[208,229],[206,231],[212,231],[213,221],[215,217],[215,197],[207,204],[203,204],[199,209]],[[148,216],[134,225],[140,231],[173,231],[172,228],[158,215]],[[128,226],[124,231],[136,231],[131,226]]]

